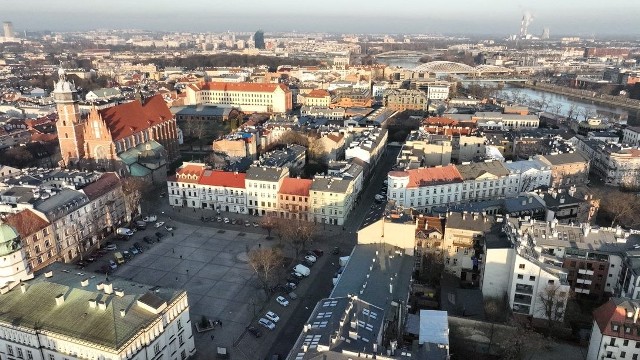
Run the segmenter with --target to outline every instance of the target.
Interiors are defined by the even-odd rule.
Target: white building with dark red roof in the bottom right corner
[[[640,358],[640,301],[613,298],[593,312],[587,360]]]

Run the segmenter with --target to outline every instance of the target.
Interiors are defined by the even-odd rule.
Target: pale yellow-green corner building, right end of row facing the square
[[[356,195],[354,179],[316,176],[310,189],[311,216],[315,222],[344,225]]]

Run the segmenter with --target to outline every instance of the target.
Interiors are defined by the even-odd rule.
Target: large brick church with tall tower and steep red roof
[[[157,176],[166,176],[167,164],[180,155],[176,120],[162,96],[82,114],[75,85],[63,69],[58,75],[53,98],[61,165],[162,181]]]

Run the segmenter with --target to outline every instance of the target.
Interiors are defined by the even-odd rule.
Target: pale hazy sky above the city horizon
[[[17,31],[299,31],[390,34],[638,35],[640,0],[21,0],[2,1]]]

